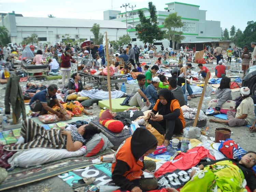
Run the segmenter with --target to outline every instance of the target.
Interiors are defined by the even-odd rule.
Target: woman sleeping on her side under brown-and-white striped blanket
[[[31,134],[33,133],[33,134]],[[100,130],[92,125],[85,124],[77,130],[45,130],[39,124],[31,119],[26,119],[22,123],[20,135],[24,142],[19,142],[14,146],[5,145],[7,151],[18,151],[31,149],[36,147],[47,147],[56,149],[67,149],[68,151],[76,151],[88,142],[94,134],[100,133]]]

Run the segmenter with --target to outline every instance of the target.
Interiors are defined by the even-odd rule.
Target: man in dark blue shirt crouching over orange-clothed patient
[[[56,97],[58,87],[56,84],[51,84],[48,88],[35,93],[29,102],[29,106],[32,112],[39,112],[40,115],[47,114],[48,112],[56,114],[59,118],[62,118],[62,114],[53,110],[52,107],[57,104],[60,109],[63,106],[60,104]]]

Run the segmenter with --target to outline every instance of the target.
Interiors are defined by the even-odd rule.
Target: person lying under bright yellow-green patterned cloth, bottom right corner
[[[211,162],[201,162],[200,171],[192,171],[189,180],[182,191],[251,191],[256,192],[256,180],[252,167],[256,164],[256,152],[248,151],[240,161],[219,159]],[[246,180],[246,182],[245,182]],[[168,192],[177,192],[167,188]]]

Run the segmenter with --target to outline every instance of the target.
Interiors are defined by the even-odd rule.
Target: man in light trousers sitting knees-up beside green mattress
[[[129,100],[129,106],[136,106],[140,107],[141,111],[144,112],[146,110],[149,110],[151,107],[151,103],[148,100],[148,98],[145,95],[145,82],[146,82],[146,77],[143,74],[139,74],[137,76],[138,84],[133,88],[132,92],[130,95],[132,97]],[[142,101],[142,98],[146,100],[146,102]]]

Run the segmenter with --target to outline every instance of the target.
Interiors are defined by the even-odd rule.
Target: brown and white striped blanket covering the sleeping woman
[[[65,145],[65,135],[60,134],[60,130],[52,129],[45,130],[39,124],[31,119],[26,119],[22,123],[20,135],[25,139],[24,144],[15,144],[14,146],[5,145],[6,151],[19,151],[36,147],[47,147],[63,149]]]

